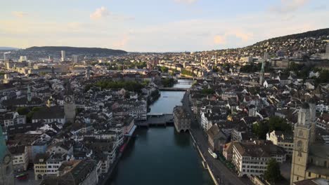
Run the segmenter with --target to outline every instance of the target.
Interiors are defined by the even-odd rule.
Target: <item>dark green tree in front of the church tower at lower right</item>
[[[273,158],[267,163],[266,171],[264,172],[264,179],[271,183],[275,183],[281,179],[280,165]]]

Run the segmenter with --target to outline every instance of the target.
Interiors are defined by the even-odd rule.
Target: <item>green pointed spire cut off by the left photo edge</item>
[[[13,160],[0,126],[0,184],[13,185]]]

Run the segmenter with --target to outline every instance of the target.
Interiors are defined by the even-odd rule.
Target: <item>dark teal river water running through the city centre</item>
[[[189,86],[176,84],[181,88]],[[181,104],[184,93],[161,92],[161,97],[150,106],[150,112],[171,114],[173,108]],[[188,132],[177,133],[174,126],[168,126],[138,128],[136,135],[124,151],[108,184],[214,184],[208,171],[202,167]]]

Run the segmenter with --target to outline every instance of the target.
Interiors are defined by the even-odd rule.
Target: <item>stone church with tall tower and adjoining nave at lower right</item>
[[[315,142],[316,108],[305,102],[294,129],[290,184],[316,177],[329,179],[329,146]]]

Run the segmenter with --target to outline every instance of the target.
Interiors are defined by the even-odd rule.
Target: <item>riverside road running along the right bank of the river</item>
[[[193,112],[191,111],[191,104],[188,100],[188,92],[185,93],[182,103],[183,103],[183,108],[186,109],[186,111],[188,111],[190,115],[193,115]],[[225,185],[252,184],[252,182],[249,179],[239,178],[235,173],[233,173],[223,163],[221,163],[220,160],[212,158],[212,156],[208,152],[208,142],[205,132],[201,130],[198,121],[196,121],[194,118],[192,120],[193,121],[191,123],[191,133],[195,138],[195,141],[197,142],[200,150],[202,151],[203,156],[205,156],[207,164],[212,170],[214,176],[217,177],[217,179],[219,179],[219,184],[225,184]]]

